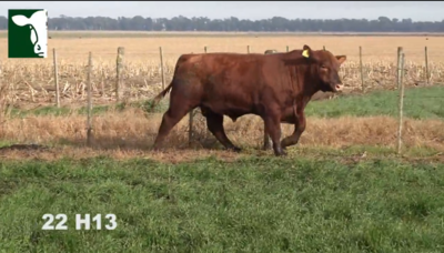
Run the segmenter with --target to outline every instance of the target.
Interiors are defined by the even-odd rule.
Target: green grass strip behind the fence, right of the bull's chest
[[[336,100],[310,102],[306,115],[335,118],[342,115],[398,115],[398,91],[374,91],[364,95],[349,95]],[[444,118],[444,87],[406,89],[404,117],[412,119]]]

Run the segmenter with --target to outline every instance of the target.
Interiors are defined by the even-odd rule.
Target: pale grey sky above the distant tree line
[[[173,18],[183,16],[224,19],[412,19],[413,21],[444,20],[444,1],[2,1],[0,16],[8,9],[47,9],[49,18],[127,17]]]

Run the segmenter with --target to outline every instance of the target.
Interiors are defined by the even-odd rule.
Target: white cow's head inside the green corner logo
[[[12,17],[12,21],[19,27],[29,26],[34,53],[39,54],[39,57],[47,57],[47,11],[37,11],[29,19],[17,14]]]

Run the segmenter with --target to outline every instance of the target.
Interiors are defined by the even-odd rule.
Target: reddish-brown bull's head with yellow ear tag
[[[324,92],[337,92],[343,84],[339,75],[340,67],[346,60],[345,55],[333,55],[329,51],[313,51],[309,45],[302,49],[302,55],[314,64],[315,74],[321,81],[320,89]]]

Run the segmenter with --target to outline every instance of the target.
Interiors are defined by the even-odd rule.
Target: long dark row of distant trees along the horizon
[[[0,17],[0,30],[8,29],[8,18]],[[185,18],[167,19],[60,16],[48,19],[49,30],[120,30],[120,31],[291,31],[291,32],[444,32],[444,20],[435,22],[412,19],[285,19],[262,20]]]

